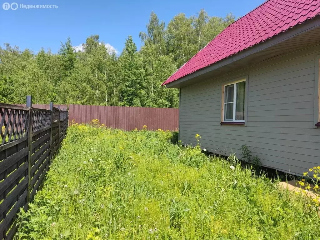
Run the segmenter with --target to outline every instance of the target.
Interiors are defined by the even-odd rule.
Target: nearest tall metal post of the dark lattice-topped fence
[[[31,161],[32,161],[32,121],[33,121],[33,111],[32,111],[32,98],[30,95],[27,96],[27,105],[29,108],[29,122],[28,122],[28,203],[30,202],[30,181],[31,181]]]

